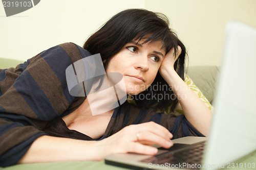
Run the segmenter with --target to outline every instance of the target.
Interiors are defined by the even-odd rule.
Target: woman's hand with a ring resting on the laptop
[[[96,147],[102,148],[99,160],[115,153],[138,153],[155,155],[158,149],[150,146],[159,144],[163,148],[170,148],[173,135],[163,126],[154,122],[124,127],[112,136],[96,142]]]

